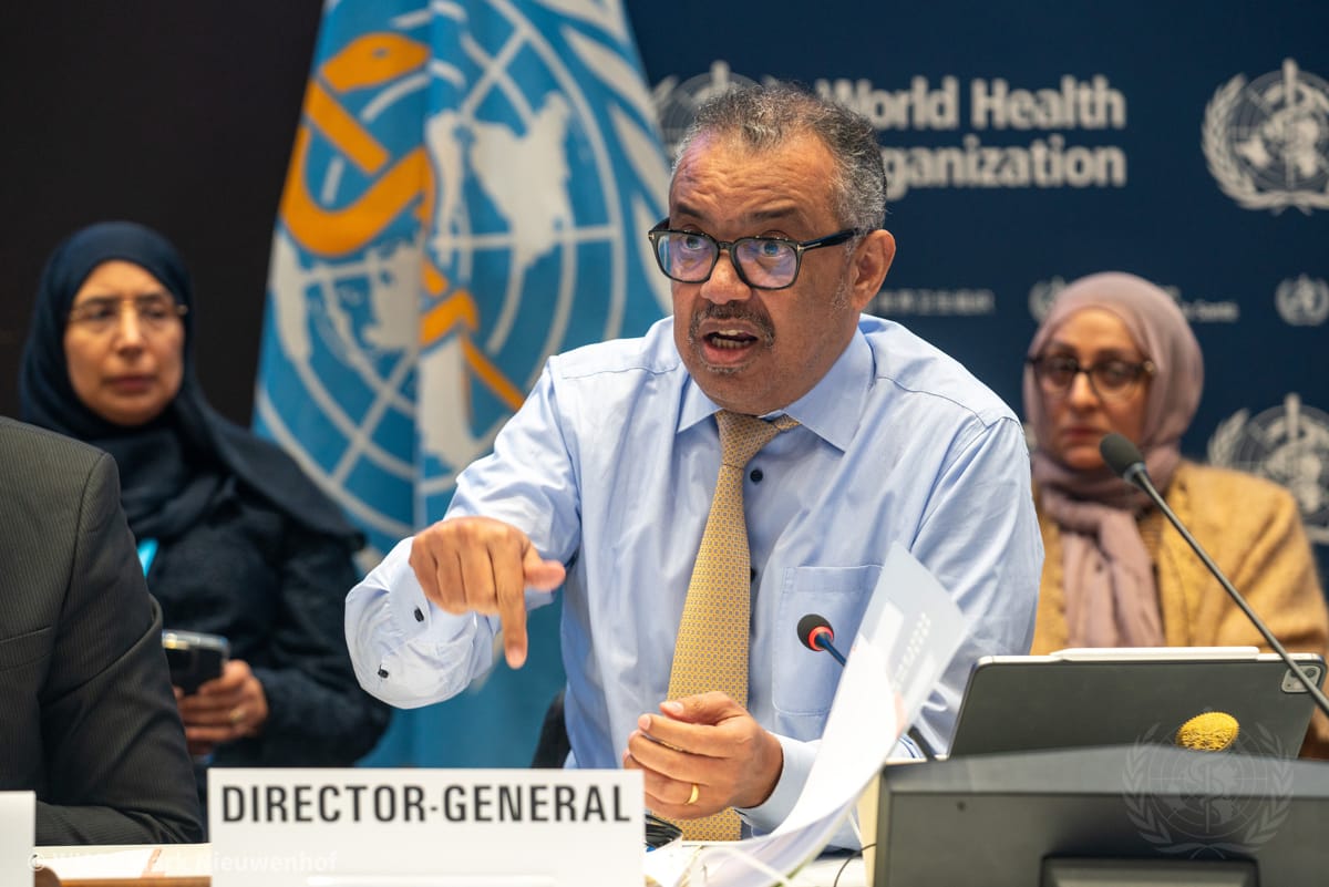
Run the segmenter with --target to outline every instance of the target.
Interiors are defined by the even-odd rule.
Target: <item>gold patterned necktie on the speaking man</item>
[[[720,473],[696,566],[687,584],[668,698],[722,690],[747,706],[752,558],[743,514],[743,469],[758,450],[797,421],[781,416],[767,422],[728,410],[716,413],[715,421],[720,428]],[[739,814],[732,807],[678,825],[688,841],[738,841],[740,837]]]

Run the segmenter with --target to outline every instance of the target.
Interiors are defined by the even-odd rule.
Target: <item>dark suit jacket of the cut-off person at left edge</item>
[[[197,841],[198,798],[116,462],[0,418],[0,789],[37,843]]]

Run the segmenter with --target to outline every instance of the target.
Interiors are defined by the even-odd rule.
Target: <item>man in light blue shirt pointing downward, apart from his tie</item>
[[[759,86],[704,105],[651,231],[674,317],[552,359],[448,517],[347,599],[367,690],[449,698],[526,656],[529,607],[562,586],[569,766],[643,770],[674,818],[773,829],[797,798],[840,679],[804,649],[819,612],[857,632],[892,542],[969,620],[918,724],[944,750],[974,660],[1025,653],[1042,543],[1011,410],[898,324],[860,312],[894,256],[861,117]],[[748,700],[668,700],[688,579],[719,470],[715,413],[799,425],[744,469]]]

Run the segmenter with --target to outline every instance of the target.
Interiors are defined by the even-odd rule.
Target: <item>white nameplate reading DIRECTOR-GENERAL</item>
[[[642,806],[637,770],[211,767],[213,887],[639,884]]]

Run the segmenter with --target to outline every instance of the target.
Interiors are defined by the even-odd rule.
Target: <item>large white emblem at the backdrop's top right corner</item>
[[[1201,146],[1223,193],[1248,210],[1329,210],[1329,82],[1292,58],[1237,74],[1204,109]]]

